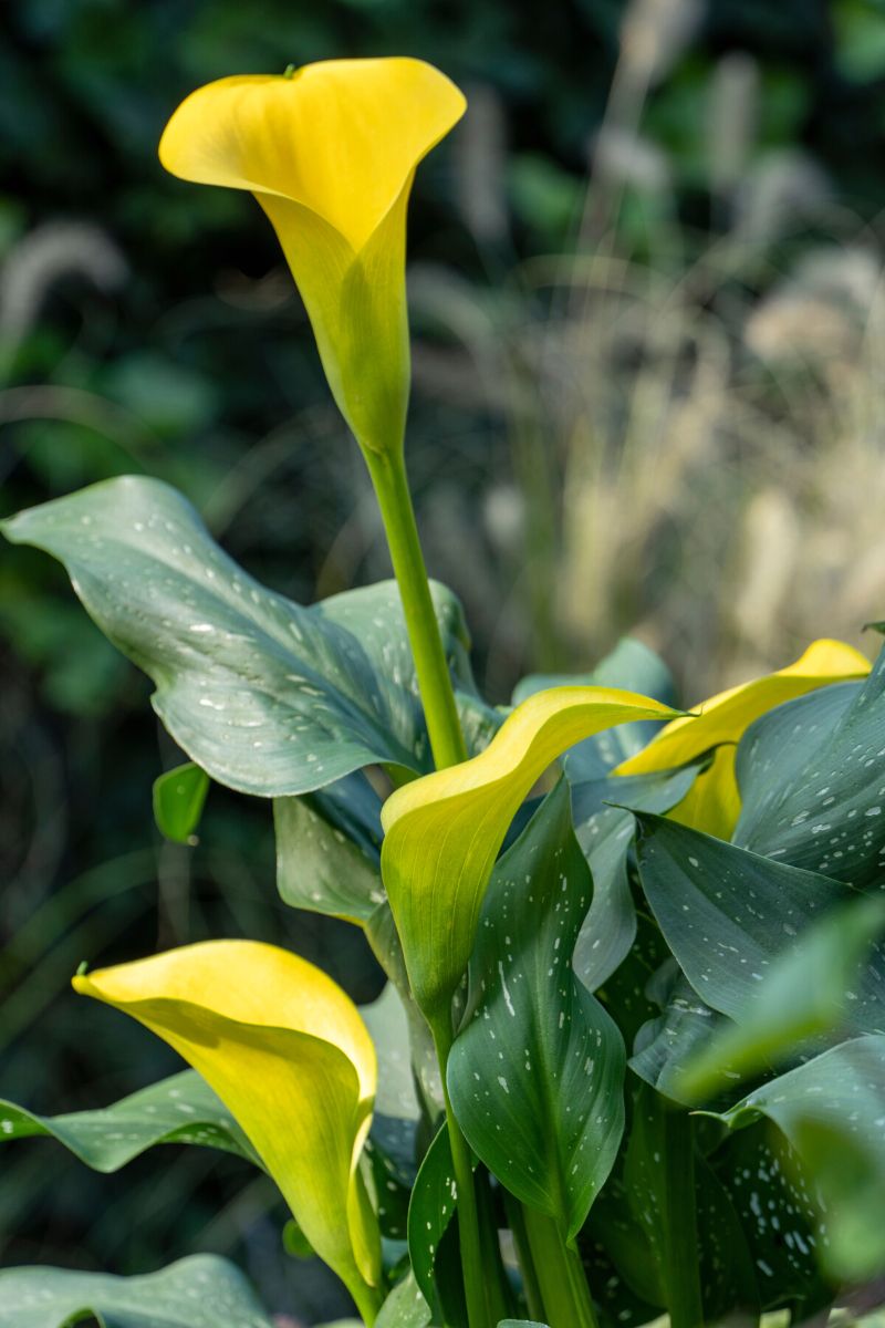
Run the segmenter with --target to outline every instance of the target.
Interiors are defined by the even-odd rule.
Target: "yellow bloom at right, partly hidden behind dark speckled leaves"
[[[689,795],[670,813],[673,821],[730,839],[740,814],[740,795],[735,780],[734,746],[766,710],[851,677],[865,677],[869,660],[844,641],[812,641],[795,664],[719,692],[697,706],[691,714],[674,720],[642,752],[624,761],[616,774],[649,774],[670,770],[694,761],[703,752],[723,748],[709,770],[701,774]]]

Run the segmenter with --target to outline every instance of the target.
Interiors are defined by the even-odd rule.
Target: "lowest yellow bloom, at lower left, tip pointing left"
[[[357,1163],[375,1053],[356,1005],[276,946],[211,940],[77,976],[170,1044],[236,1117],[310,1244],[373,1316],[375,1216]]]

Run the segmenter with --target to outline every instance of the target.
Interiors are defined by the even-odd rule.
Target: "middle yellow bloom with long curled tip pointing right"
[[[472,761],[398,789],[382,811],[381,871],[415,1000],[447,1017],[507,829],[540,774],[575,742],[677,712],[634,692],[557,687],[517,705]]]

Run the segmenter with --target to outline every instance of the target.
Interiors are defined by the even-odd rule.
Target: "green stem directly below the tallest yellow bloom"
[[[439,624],[430,598],[415,510],[406,479],[406,462],[402,453],[387,456],[366,452],[365,456],[402,595],[430,746],[437,769],[441,770],[447,765],[466,761],[467,749],[439,636]]]

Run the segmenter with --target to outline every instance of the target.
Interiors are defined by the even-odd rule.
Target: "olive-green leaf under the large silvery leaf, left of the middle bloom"
[[[273,829],[280,898],[365,926],[385,892],[381,798],[362,772],[301,798],[275,798]]]

